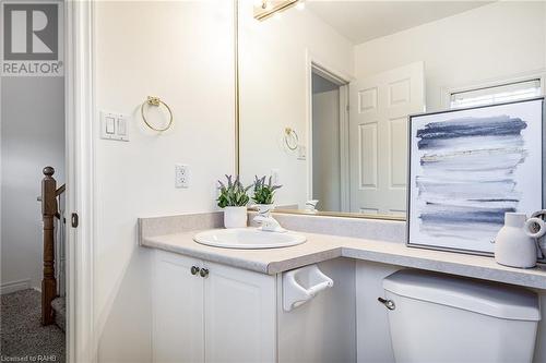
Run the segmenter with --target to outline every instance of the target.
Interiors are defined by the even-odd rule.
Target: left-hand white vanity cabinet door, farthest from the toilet
[[[153,295],[153,359],[157,363],[204,360],[203,281],[191,275],[199,259],[157,251]]]

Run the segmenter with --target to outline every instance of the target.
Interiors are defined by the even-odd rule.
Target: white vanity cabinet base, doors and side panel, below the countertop
[[[282,274],[154,254],[154,362],[355,361],[351,261],[322,264],[336,286],[286,312]]]

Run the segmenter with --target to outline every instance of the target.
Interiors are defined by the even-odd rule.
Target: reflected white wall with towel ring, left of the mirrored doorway
[[[246,182],[254,174],[280,170],[278,204],[307,199],[308,160],[284,146],[283,133],[293,128],[308,146],[310,70],[306,52],[343,74],[353,73],[353,45],[310,11],[290,9],[282,19],[258,22],[252,0],[241,1],[240,15],[240,172]]]

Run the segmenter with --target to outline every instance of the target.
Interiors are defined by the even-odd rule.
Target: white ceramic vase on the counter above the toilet
[[[536,241],[525,233],[526,220],[521,213],[505,215],[505,227],[495,239],[495,261],[498,264],[519,268],[536,265]]]

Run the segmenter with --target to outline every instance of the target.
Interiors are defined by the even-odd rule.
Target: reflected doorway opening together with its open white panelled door
[[[321,210],[404,217],[407,117],[425,109],[423,62],[349,84],[324,68],[311,73],[311,198]]]

